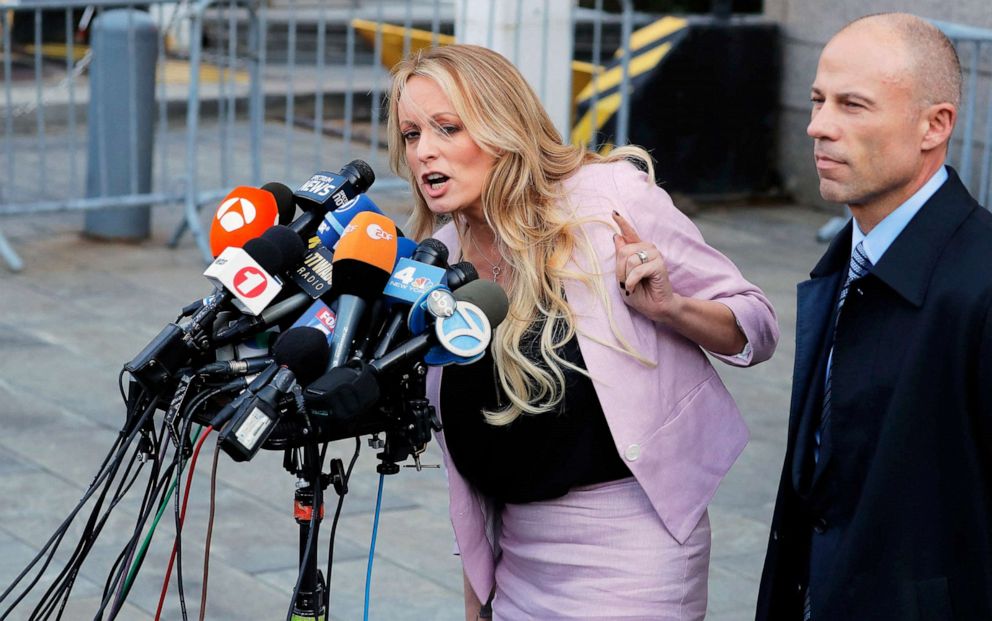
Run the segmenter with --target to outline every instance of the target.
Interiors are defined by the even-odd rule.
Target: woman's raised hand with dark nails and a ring
[[[641,240],[634,227],[616,211],[620,234],[613,236],[617,251],[617,280],[627,304],[653,321],[669,323],[678,314],[682,296],[672,291],[668,266],[661,251]]]

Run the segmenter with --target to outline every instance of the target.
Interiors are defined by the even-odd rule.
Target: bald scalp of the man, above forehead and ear
[[[859,17],[834,38],[862,29],[894,36],[901,44],[921,105],[961,104],[961,61],[939,28],[909,13],[877,13]]]

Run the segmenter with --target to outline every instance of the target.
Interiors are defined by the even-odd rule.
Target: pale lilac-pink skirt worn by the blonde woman
[[[709,517],[680,544],[633,478],[507,505],[501,519],[494,621],[706,615]]]

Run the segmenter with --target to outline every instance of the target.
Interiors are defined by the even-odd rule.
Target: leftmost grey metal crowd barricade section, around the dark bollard
[[[3,39],[3,148],[0,151],[0,215],[40,214],[61,211],[79,211],[100,208],[136,207],[156,204],[200,204],[211,200],[217,192],[198,192],[198,177],[202,176],[195,158],[195,146],[201,140],[198,133],[198,91],[203,50],[198,36],[208,9],[215,3],[164,2],[144,0],[126,5],[131,10],[147,11],[159,24],[159,71],[156,83],[155,120],[155,172],[150,191],[136,191],[137,171],[131,170],[131,192],[109,196],[106,184],[98,183],[97,190],[88,198],[83,187],[81,171],[86,162],[81,153],[86,152],[86,108],[89,101],[89,81],[86,71],[91,62],[89,46],[81,36],[86,26],[110,8],[121,7],[109,0],[15,0],[0,3],[0,28]],[[257,32],[257,28],[253,30]],[[26,33],[26,35],[25,35]],[[53,33],[56,33],[53,36]],[[189,33],[192,33],[190,36]],[[129,36],[129,51],[134,50],[135,37]],[[168,46],[182,40],[188,47],[180,47],[166,54]],[[231,58],[219,61],[213,70],[220,76],[219,87],[214,89],[217,106],[233,111],[236,74],[244,68]],[[250,65],[251,62],[248,61]],[[252,69],[252,67],[249,67]],[[257,80],[251,82],[254,88]],[[227,92],[225,92],[225,89]],[[241,89],[245,90],[245,89]],[[252,92],[252,101],[257,96]],[[187,127],[170,118],[170,107],[185,107]],[[137,110],[130,107],[130,118],[109,119],[110,122],[127,123],[132,128],[131,140],[135,141]],[[96,114],[102,114],[101,109]],[[223,116],[223,115],[221,115]],[[231,115],[227,114],[228,120]],[[178,129],[176,125],[179,125]],[[223,124],[221,124],[223,126]],[[221,151],[228,152],[223,144]],[[186,145],[186,165],[181,172],[174,162],[182,161],[180,149]],[[106,179],[106,171],[113,162],[107,161],[107,150],[101,149],[102,161],[98,162],[98,179]],[[253,150],[257,153],[257,149]],[[178,174],[177,174],[178,173]],[[222,173],[221,183],[230,182],[229,170]],[[213,185],[213,184],[211,184]],[[100,186],[103,186],[100,188]],[[216,187],[216,186],[213,186]],[[221,194],[222,195],[222,194]],[[195,209],[191,210],[195,211]],[[201,227],[194,218],[188,218],[201,248],[206,242]],[[0,233],[0,255],[15,271],[22,262]]]

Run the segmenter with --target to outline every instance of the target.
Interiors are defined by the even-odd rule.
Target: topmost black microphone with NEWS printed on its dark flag
[[[375,182],[372,167],[362,160],[345,164],[339,173],[314,173],[293,194],[304,214],[292,228],[303,239],[310,239],[328,211],[343,207],[349,200],[364,194]]]

